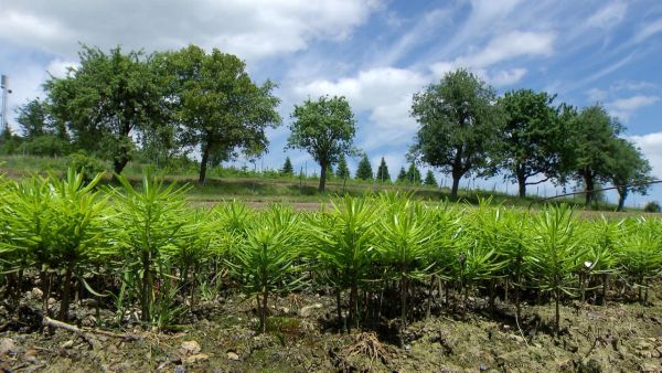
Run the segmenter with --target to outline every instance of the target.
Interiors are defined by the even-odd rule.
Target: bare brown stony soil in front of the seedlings
[[[34,291],[34,290],[33,290]],[[341,333],[334,299],[298,294],[273,299],[268,333],[257,330],[255,301],[241,296],[203,302],[175,330],[137,324],[115,334],[95,327],[89,300],[73,306],[76,333],[41,327],[30,291],[21,318],[0,306],[0,371],[4,372],[662,372],[661,291],[652,303],[468,308],[419,317],[405,331],[380,320]],[[53,302],[53,308],[56,308]],[[102,309],[104,319],[111,319]],[[109,330],[106,326],[102,330]],[[130,339],[129,339],[130,338]]]

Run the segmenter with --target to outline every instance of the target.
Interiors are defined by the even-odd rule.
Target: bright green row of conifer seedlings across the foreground
[[[88,297],[111,305],[119,324],[135,309],[145,324],[164,326],[241,290],[264,331],[270,302],[296,292],[332,295],[342,328],[395,318],[406,327],[484,297],[516,317],[522,302],[551,301],[558,330],[559,303],[622,294],[645,303],[662,269],[656,219],[587,220],[565,205],[526,212],[397,193],[338,198],[319,212],[241,202],[193,209],[186,186],[100,180],[70,170],[2,182],[0,280],[9,306],[38,284],[42,311],[57,298],[61,320],[74,299]]]

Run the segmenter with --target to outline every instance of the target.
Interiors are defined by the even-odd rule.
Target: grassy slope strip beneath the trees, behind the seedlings
[[[63,174],[68,164],[67,158],[43,158],[30,156],[4,156],[0,157],[0,173],[11,179],[18,179],[31,174],[44,174],[55,172]],[[107,164],[107,169],[111,169]],[[159,170],[153,167],[137,162],[129,162],[122,174],[132,182],[140,182],[146,170],[162,175],[168,181],[181,184],[191,184],[189,199],[194,204],[212,205],[220,201],[242,200],[252,205],[264,205],[271,202],[292,203],[297,209],[317,209],[321,203],[328,203],[335,195],[363,195],[380,191],[402,191],[426,201],[442,201],[449,199],[449,188],[436,188],[428,185],[409,185],[401,183],[366,182],[362,180],[341,180],[331,178],[327,181],[327,192],[318,191],[317,178],[279,177],[275,172],[237,171],[235,169],[211,168],[204,185],[197,183],[197,169],[194,167],[178,170]],[[238,173],[238,174],[237,174]],[[107,173],[106,182],[111,183],[110,173]],[[467,190],[460,189],[459,199],[456,202],[476,204],[479,199],[491,196],[493,202],[506,206],[520,206],[524,209],[540,206],[536,201],[542,196],[530,194],[524,199],[516,195],[505,194],[499,191]],[[574,199],[559,199],[580,206],[584,202],[583,195]],[[616,205],[600,203],[590,210],[615,211]],[[637,209],[628,209],[630,212],[640,212]]]

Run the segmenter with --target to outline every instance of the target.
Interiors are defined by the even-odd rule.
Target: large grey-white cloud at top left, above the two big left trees
[[[195,43],[254,60],[348,39],[380,8],[361,0],[9,0],[0,40],[71,58],[78,42],[147,51]]]

